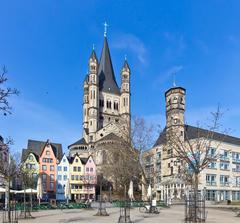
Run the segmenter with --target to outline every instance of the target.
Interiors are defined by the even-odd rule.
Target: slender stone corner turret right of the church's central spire
[[[131,116],[130,116],[130,68],[125,58],[121,71],[121,116],[123,125],[127,128],[130,134]],[[124,123],[125,122],[125,123]]]

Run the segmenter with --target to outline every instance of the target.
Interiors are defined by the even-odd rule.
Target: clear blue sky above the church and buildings
[[[0,133],[13,150],[27,139],[67,145],[81,137],[82,84],[92,44],[100,56],[103,22],[120,83],[131,66],[132,113],[164,126],[164,92],[187,89],[186,121],[207,123],[220,103],[222,123],[240,136],[240,1],[0,0],[0,65],[21,91]]]

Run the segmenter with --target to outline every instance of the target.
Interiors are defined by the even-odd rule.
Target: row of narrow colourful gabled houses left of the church
[[[70,187],[71,200],[95,199],[97,175],[92,156],[82,158],[76,154],[69,158],[62,155],[61,144],[28,140],[22,163],[23,171],[33,177],[29,186],[36,188],[38,177],[42,177],[43,200],[66,200],[66,186]]]

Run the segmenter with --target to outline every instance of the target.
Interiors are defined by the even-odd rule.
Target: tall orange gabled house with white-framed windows
[[[39,173],[46,198],[55,198],[57,181],[57,154],[55,147],[47,141],[39,158]]]

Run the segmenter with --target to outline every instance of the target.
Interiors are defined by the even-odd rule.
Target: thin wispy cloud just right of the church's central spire
[[[147,49],[145,44],[137,36],[133,34],[120,34],[113,41],[113,47],[117,49],[130,50],[136,54],[138,61],[141,64],[146,65],[147,60]]]

